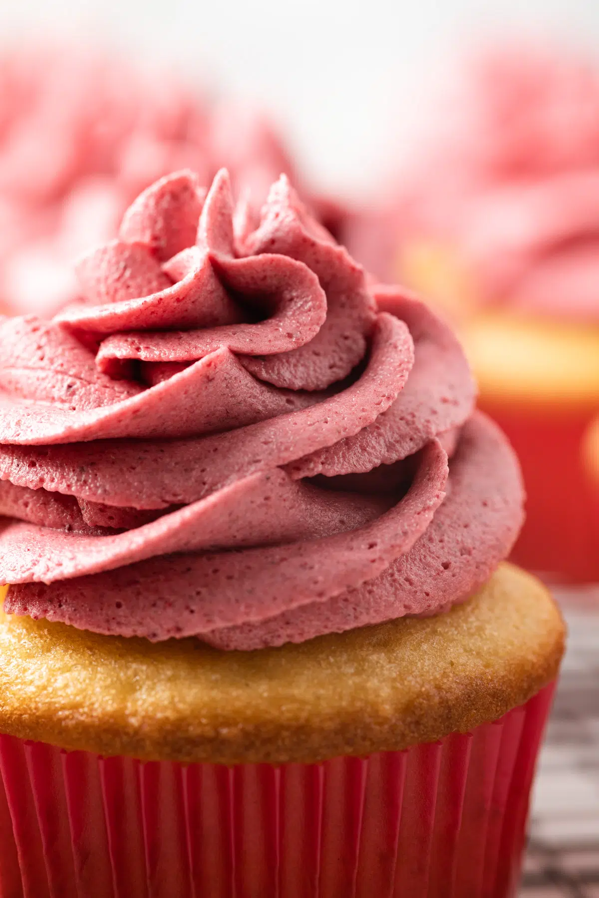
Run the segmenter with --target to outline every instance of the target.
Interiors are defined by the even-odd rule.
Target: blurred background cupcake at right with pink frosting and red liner
[[[363,223],[353,250],[456,323],[480,406],[524,470],[514,559],[552,579],[596,581],[580,457],[599,408],[599,71],[515,46],[483,55],[469,75],[447,104],[451,121],[439,113],[393,207]],[[381,230],[393,240],[379,241]]]

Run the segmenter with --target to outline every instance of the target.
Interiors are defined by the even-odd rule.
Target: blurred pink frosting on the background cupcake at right
[[[392,204],[355,225],[357,258],[385,279],[402,242],[441,240],[471,263],[481,301],[599,320],[599,66],[492,48],[414,155]]]

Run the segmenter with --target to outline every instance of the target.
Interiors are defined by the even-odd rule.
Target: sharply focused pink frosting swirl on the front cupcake
[[[286,177],[145,190],[52,322],[0,325],[5,609],[250,649],[435,613],[509,551],[517,463],[452,332]]]

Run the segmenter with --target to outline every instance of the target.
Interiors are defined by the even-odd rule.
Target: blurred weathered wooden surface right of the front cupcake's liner
[[[599,898],[599,586],[560,591],[568,622],[533,797],[521,898]]]

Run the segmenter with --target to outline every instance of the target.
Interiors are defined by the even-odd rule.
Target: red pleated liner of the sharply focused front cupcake
[[[321,764],[102,758],[0,736],[3,898],[506,898],[553,684],[500,720]]]

